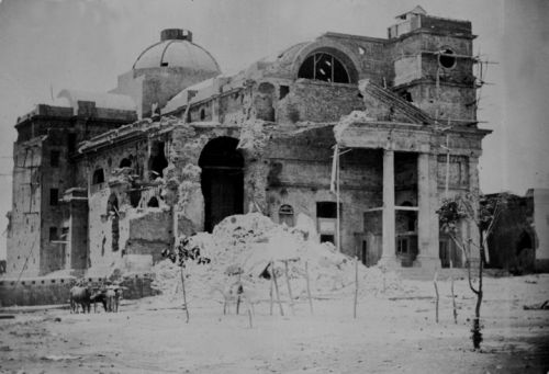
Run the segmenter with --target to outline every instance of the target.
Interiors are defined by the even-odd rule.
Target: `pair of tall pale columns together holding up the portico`
[[[418,154],[417,158],[417,205],[418,205],[418,249],[416,264],[422,268],[439,268],[438,253],[438,208],[437,159],[435,155]],[[400,267],[396,259],[396,229],[394,204],[394,150],[383,150],[383,211],[382,211],[382,254],[380,263]]]

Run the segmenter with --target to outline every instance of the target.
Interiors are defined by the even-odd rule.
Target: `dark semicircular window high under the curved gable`
[[[327,52],[317,52],[305,58],[298,72],[298,78],[350,83],[348,68],[339,58]]]

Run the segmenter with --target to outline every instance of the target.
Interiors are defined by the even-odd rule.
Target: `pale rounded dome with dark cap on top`
[[[146,48],[135,60],[134,69],[187,68],[221,73],[217,61],[208,50],[192,43],[188,30],[167,29],[160,33],[160,42]]]

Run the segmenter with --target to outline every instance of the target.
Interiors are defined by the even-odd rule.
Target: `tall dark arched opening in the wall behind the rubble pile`
[[[200,155],[206,231],[226,216],[244,212],[244,158],[237,145],[238,139],[219,137],[210,140]]]

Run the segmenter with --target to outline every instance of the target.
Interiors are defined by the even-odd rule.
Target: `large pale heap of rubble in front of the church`
[[[337,297],[355,292],[355,260],[339,253],[332,243],[318,243],[316,236],[300,228],[277,225],[259,213],[226,217],[212,234],[200,233],[192,246],[211,259],[209,264],[186,264],[186,287],[191,297],[223,297],[238,281],[257,299],[268,299],[271,287],[270,262],[274,264],[281,297],[288,298],[285,267],[294,297],[306,297],[307,263],[313,297]],[[168,297],[181,292],[180,269],[169,260],[153,271],[154,286]],[[380,268],[358,265],[359,293],[394,294],[402,291],[400,277]]]

